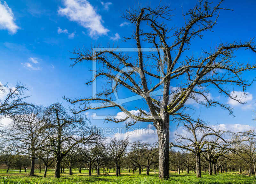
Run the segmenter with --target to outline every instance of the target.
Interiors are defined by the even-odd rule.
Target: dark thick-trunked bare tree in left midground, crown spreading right
[[[88,125],[88,119],[83,116],[69,115],[60,103],[46,108],[45,118],[50,132],[54,132],[48,136],[50,143],[45,147],[50,147],[50,151],[54,152],[55,178],[60,178],[60,163],[63,157],[77,144],[100,140],[100,132]]]

